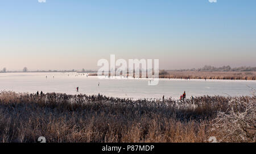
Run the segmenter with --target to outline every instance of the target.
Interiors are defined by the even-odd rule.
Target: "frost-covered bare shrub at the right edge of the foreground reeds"
[[[256,141],[256,98],[255,90],[249,102],[230,101],[230,110],[218,112],[212,131],[218,141],[255,142]]]

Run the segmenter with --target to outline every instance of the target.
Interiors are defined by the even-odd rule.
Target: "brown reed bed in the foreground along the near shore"
[[[0,142],[36,142],[39,136],[47,142],[207,142],[210,136],[218,141],[255,142],[255,100],[255,95],[179,101],[2,91]],[[251,136],[232,138],[236,131],[227,136],[227,127],[221,127],[225,116],[245,113],[249,105]]]

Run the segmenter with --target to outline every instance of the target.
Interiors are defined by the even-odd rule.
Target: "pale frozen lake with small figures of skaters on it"
[[[47,78],[46,78],[47,76]],[[54,76],[54,77],[53,77]],[[100,82],[100,86],[98,86]],[[36,93],[36,91],[88,94],[98,93],[125,98],[179,98],[183,91],[187,98],[200,95],[251,95],[248,86],[256,89],[256,81],[242,80],[180,80],[159,79],[156,86],[148,86],[148,79],[99,79],[82,73],[0,73],[0,90]],[[79,86],[79,92],[76,87]]]

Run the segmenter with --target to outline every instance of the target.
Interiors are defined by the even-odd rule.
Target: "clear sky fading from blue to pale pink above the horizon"
[[[0,69],[97,69],[110,54],[162,69],[256,66],[256,1],[0,1]]]

